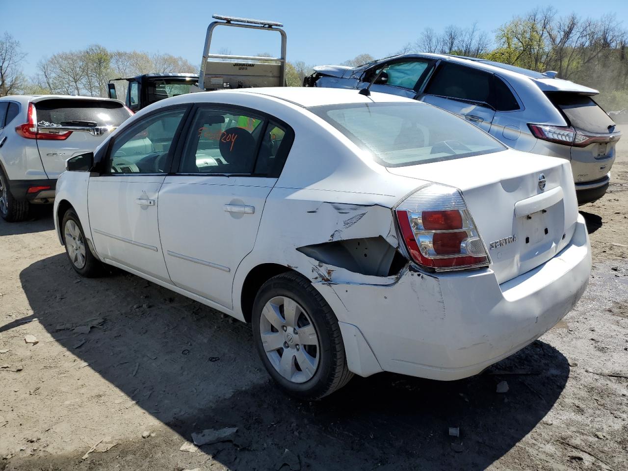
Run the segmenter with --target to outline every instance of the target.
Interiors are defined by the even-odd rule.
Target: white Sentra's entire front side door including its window
[[[187,109],[154,112],[124,129],[109,144],[103,173],[90,177],[87,190],[99,256],[167,283],[157,219],[159,190]]]

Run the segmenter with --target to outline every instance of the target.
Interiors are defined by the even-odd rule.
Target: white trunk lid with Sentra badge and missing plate
[[[548,261],[573,234],[578,207],[566,160],[508,149],[387,170],[462,191],[499,283]]]

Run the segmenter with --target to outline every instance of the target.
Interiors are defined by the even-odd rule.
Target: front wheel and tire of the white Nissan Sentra
[[[95,278],[104,273],[104,266],[97,259],[87,244],[83,226],[73,209],[68,209],[61,222],[61,234],[65,253],[72,268],[85,278]]]

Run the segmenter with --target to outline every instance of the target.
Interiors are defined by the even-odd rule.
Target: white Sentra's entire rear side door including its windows
[[[160,190],[161,247],[173,284],[232,308],[234,274],[253,249],[266,197],[291,146],[294,134],[286,129],[249,109],[195,110],[178,173]]]

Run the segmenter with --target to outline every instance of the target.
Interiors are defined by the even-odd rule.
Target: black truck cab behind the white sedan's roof
[[[196,73],[144,73],[136,77],[112,78],[107,85],[109,98],[122,100],[133,112],[169,97],[190,93],[198,85]],[[119,95],[119,97],[118,97]]]

